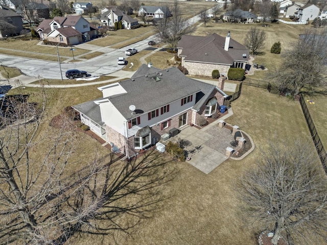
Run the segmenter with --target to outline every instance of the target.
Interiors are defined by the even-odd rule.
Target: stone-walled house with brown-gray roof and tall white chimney
[[[248,63],[249,51],[241,43],[214,33],[207,37],[182,36],[177,45],[181,65],[189,74],[212,76],[218,69],[227,76],[229,68],[243,68]]]

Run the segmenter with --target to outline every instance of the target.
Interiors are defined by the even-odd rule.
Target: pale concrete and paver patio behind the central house
[[[169,141],[183,140],[184,150],[188,152],[188,156],[191,158],[186,162],[203,173],[209,174],[228,159],[225,155],[226,148],[231,146],[230,142],[234,141],[234,137],[229,129],[219,128],[217,124],[219,120],[224,120],[232,114],[232,109],[229,108],[226,115],[202,129],[186,126],[180,130],[178,135],[171,137]]]

